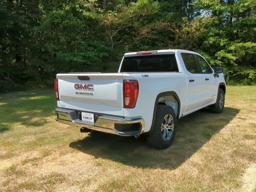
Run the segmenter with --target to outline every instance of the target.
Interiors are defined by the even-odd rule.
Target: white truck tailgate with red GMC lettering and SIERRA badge
[[[57,78],[58,107],[124,116],[122,74],[68,73]]]

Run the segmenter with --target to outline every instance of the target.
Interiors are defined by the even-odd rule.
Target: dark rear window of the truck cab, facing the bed
[[[120,72],[179,72],[175,54],[124,57]]]

